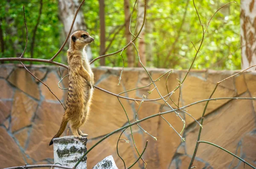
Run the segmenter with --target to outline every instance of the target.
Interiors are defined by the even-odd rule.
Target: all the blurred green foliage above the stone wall
[[[30,57],[32,31],[35,28],[40,0],[20,0],[0,2],[0,24],[4,33],[5,51],[2,57],[15,57],[22,53],[26,42],[26,30],[23,21],[22,5],[26,9],[26,20],[29,30],[28,47],[25,57]],[[131,0],[132,10],[135,0]],[[195,1],[204,29],[214,12],[228,3],[227,0],[201,0]],[[105,1],[106,47],[111,43],[106,54],[123,48],[125,43],[124,7],[123,1]],[[202,28],[198,21],[192,0],[186,8],[187,0],[149,0],[147,5],[145,23],[146,50],[150,52],[146,57],[152,56],[148,65],[158,68],[189,68],[195,49],[191,41],[198,48],[202,38]],[[196,69],[240,69],[240,1],[222,8],[212,19],[204,43],[193,68]],[[8,10],[7,10],[8,9]],[[137,8],[136,8],[137,9]],[[85,1],[82,11],[84,13],[87,31],[96,39],[91,45],[93,57],[99,56],[99,2]],[[183,15],[186,16],[183,21]],[[134,31],[137,11],[131,23]],[[7,22],[11,18],[12,22]],[[148,29],[151,25],[151,29]],[[182,27],[181,27],[182,26]],[[181,27],[181,30],[180,30]],[[12,31],[16,30],[15,34]],[[180,30],[180,31],[179,31]],[[35,38],[34,58],[49,59],[61,46],[62,24],[58,19],[58,1],[43,0],[43,11]],[[118,33],[116,33],[119,31]],[[63,38],[62,38],[63,39]],[[113,39],[113,42],[111,40]],[[151,46],[150,46],[151,44]],[[148,50],[148,49],[151,50]],[[134,51],[135,54],[135,51]],[[127,66],[127,57],[122,53]],[[61,62],[63,51],[57,58]],[[137,56],[136,56],[137,59]],[[99,65],[96,61],[95,65]],[[122,66],[119,54],[106,58],[107,66]]]

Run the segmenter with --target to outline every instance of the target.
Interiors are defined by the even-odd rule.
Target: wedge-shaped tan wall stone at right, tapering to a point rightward
[[[183,100],[183,105],[208,99],[214,88],[215,84],[212,82],[204,81],[195,76],[188,76],[182,85],[181,97]],[[235,90],[230,90],[229,88],[219,85],[212,98],[233,96],[236,96]],[[227,101],[229,100],[210,101],[207,107],[206,115],[218,107],[221,107],[221,105],[227,103]],[[187,107],[186,109],[189,110],[188,113],[191,114],[195,119],[199,119],[204,111],[205,104],[206,102],[198,103],[192,105],[191,107]],[[193,121],[194,120],[190,118],[189,115],[186,115],[186,125],[192,123]]]

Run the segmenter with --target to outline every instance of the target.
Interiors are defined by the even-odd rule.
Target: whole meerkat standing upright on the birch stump
[[[53,138],[61,136],[67,122],[75,138],[88,136],[81,132],[80,127],[87,121],[93,95],[93,72],[84,47],[94,39],[86,31],[76,31],[70,36],[70,47],[67,51],[69,66],[69,86],[66,110],[62,118],[61,127]],[[53,139],[52,138],[52,139]],[[49,146],[52,145],[51,140]]]

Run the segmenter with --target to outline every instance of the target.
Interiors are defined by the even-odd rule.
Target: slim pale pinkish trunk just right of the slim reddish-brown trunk
[[[144,18],[144,1],[138,0],[139,4],[139,11],[138,11],[138,25],[137,25],[137,32],[140,31],[140,28],[143,24],[143,18]],[[141,38],[139,40],[139,52],[140,52],[140,60],[143,63],[144,66],[146,66],[146,55],[145,55],[145,28],[143,27],[142,31],[140,32],[139,37]],[[138,67],[142,67],[140,62],[138,63]]]

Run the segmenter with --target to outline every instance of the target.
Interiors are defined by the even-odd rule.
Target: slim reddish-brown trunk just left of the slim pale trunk
[[[129,25],[130,25],[130,0],[124,0],[124,8],[125,8],[125,38],[126,38],[126,44],[131,42],[131,33],[129,31]],[[126,49],[126,56],[128,59],[128,67],[134,67],[134,53],[132,51],[133,46],[129,45]]]

